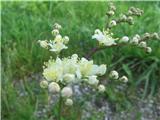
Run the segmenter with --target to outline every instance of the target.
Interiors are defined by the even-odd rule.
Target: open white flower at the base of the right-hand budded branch
[[[111,46],[116,44],[115,39],[112,38],[111,34],[109,34],[107,31],[104,31],[102,33],[99,29],[95,31],[92,39],[97,39],[100,44],[103,44],[105,46]]]

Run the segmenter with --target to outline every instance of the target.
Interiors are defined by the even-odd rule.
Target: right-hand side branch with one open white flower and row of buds
[[[147,53],[151,53],[152,49],[151,47],[147,46],[147,40],[159,39],[159,35],[155,32],[145,33],[143,36],[136,34],[132,38],[129,38],[128,36],[123,36],[122,38],[113,38],[113,33],[111,33],[109,29],[106,31],[103,30],[103,32],[99,29],[96,29],[92,39],[96,39],[102,46],[108,47],[130,44],[144,49]]]

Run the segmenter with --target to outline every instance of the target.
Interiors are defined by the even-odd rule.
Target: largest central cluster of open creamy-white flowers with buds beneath
[[[50,93],[60,93],[66,98],[66,105],[72,105],[73,101],[71,85],[78,82],[87,83],[96,88],[99,92],[105,91],[105,86],[99,84],[98,76],[106,73],[106,65],[96,65],[92,60],[79,58],[77,54],[71,57],[50,59],[45,63],[41,81],[42,88],[48,88]]]

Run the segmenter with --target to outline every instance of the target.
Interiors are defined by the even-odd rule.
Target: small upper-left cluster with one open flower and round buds
[[[61,25],[54,24],[52,34],[55,36],[54,40],[39,40],[40,46],[49,49],[52,52],[59,53],[63,49],[67,49],[66,44],[69,42],[69,37],[62,37],[59,33]]]

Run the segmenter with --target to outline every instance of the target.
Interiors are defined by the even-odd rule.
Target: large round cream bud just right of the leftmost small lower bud
[[[51,93],[58,93],[60,91],[60,86],[56,82],[51,82],[48,89]]]

